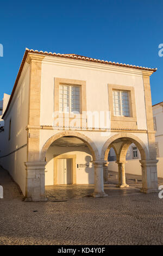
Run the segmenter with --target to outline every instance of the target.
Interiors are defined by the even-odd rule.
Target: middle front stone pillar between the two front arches
[[[92,161],[95,168],[95,188],[92,194],[93,197],[107,197],[104,192],[103,164],[104,162]]]

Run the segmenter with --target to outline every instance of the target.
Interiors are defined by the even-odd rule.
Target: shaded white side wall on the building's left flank
[[[26,169],[24,162],[27,161],[27,147],[20,150],[17,149],[27,144],[28,89],[29,68],[28,64],[26,64],[18,81],[9,110],[4,117],[4,132],[0,133],[0,164],[4,169],[9,171],[12,178],[21,187],[23,194],[26,188]],[[10,118],[11,139],[9,141]],[[17,151],[13,153],[15,150]]]

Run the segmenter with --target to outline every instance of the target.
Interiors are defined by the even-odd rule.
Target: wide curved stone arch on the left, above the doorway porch
[[[72,137],[81,139],[81,141],[83,141],[87,145],[87,147],[89,147],[91,154],[92,154],[93,161],[99,160],[98,149],[97,149],[95,143],[90,138],[88,138],[84,134],[76,132],[76,131],[62,131],[62,132],[55,133],[55,135],[51,136],[46,141],[46,143],[43,145],[42,150],[40,152],[40,161],[45,160],[46,152],[47,152],[48,148],[50,147],[50,145],[57,139],[64,137],[64,136],[72,136]]]

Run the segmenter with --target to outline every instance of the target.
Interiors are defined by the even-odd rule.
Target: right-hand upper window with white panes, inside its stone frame
[[[113,98],[114,115],[130,117],[129,92],[113,90],[112,98]]]

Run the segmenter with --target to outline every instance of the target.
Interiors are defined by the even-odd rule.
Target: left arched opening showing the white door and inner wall
[[[45,185],[94,184],[89,147],[79,138],[64,136],[46,152]]]

